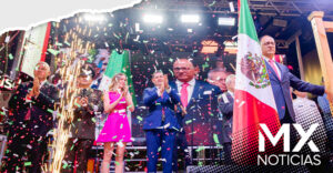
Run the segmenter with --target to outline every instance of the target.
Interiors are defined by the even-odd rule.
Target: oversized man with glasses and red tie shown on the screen
[[[212,138],[214,125],[212,124],[218,115],[216,95],[221,93],[221,90],[215,85],[195,80],[198,72],[199,67],[194,67],[192,61],[178,59],[173,63],[176,80],[170,83],[171,88],[181,95],[181,103],[188,112],[184,116],[178,116],[181,130],[176,138],[176,146],[180,147],[178,154],[180,159],[185,157],[185,164],[190,164],[188,143],[191,145],[214,144]],[[173,171],[178,170],[175,154]]]

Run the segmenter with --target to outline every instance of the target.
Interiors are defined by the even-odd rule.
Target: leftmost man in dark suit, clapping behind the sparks
[[[39,62],[33,71],[33,82],[18,86],[9,101],[9,142],[6,171],[22,171],[22,157],[28,152],[29,172],[41,172],[42,156],[47,152],[47,133],[53,128],[52,112],[58,101],[58,90],[47,81],[50,67]]]

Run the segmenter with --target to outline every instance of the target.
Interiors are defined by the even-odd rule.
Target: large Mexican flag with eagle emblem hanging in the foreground
[[[281,125],[248,0],[239,0],[234,95],[232,159],[236,163],[253,164],[259,154],[259,123],[265,123],[273,135]],[[265,141],[265,146],[270,145],[269,140]]]

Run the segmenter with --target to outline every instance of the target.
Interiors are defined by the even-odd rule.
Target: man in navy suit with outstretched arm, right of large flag
[[[295,113],[293,110],[290,86],[297,91],[310,92],[316,95],[323,95],[325,93],[325,88],[300,80],[293,75],[285,65],[275,62],[275,41],[272,37],[262,37],[260,43],[272,84],[280,122],[294,123]]]

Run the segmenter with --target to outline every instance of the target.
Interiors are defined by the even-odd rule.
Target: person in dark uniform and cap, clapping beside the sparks
[[[95,115],[103,112],[102,92],[90,88],[94,74],[94,70],[89,64],[84,64],[78,77],[74,116],[63,159],[67,164],[62,166],[61,172],[73,172],[74,167],[77,172],[87,172],[89,150],[95,139]]]

